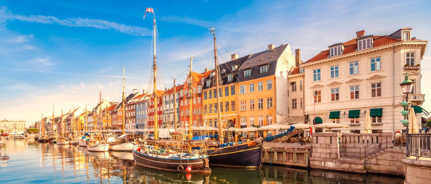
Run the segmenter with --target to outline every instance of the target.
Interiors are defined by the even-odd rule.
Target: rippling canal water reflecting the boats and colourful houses
[[[77,145],[3,139],[0,183],[124,184],[403,184],[402,178],[262,166],[261,170],[212,167],[210,175],[183,174],[134,164],[127,152],[95,153]]]

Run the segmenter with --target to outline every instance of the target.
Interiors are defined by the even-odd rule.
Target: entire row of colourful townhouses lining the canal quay
[[[218,127],[222,121],[223,127],[237,129],[334,122],[349,125],[337,131],[363,133],[369,111],[373,133],[395,133],[404,130],[399,121],[403,119],[399,103],[404,100],[399,84],[406,73],[415,81],[410,101],[418,122],[421,115],[429,115],[421,107],[425,94],[420,64],[427,41],[411,35],[408,27],[384,36],[358,31],[353,39],[328,43],[328,49],[305,62],[300,49],[292,52],[289,44],[271,44],[255,54],[232,54],[230,61],[217,66],[218,73],[215,69],[189,72],[184,84],[159,90],[156,104],[152,93],[134,90],[125,98],[125,107],[122,102],[102,100],[88,112],[75,115],[71,110],[63,118],[68,130],[74,123],[80,129],[87,123],[92,129],[101,118],[107,129],[121,129],[124,123],[126,129],[143,129],[155,121],[160,127]],[[241,132],[243,137],[278,133],[283,131]]]

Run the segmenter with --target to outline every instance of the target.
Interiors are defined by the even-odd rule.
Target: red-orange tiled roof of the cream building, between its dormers
[[[356,52],[356,46],[357,46],[356,39],[358,39],[358,38],[359,37],[356,37],[354,39],[350,39],[349,41],[343,43],[344,44],[343,54],[349,54],[352,52]],[[390,37],[387,35],[385,35],[385,36],[373,36],[373,39],[374,39],[373,48],[401,41],[401,39],[397,39],[397,38]],[[319,54],[315,55],[311,59],[307,60],[305,63],[310,63],[313,61],[327,59],[328,56],[329,56],[329,49],[326,49],[324,51],[321,51]]]

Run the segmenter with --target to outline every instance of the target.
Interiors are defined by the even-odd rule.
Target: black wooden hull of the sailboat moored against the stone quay
[[[262,165],[262,151],[262,145],[257,142],[248,142],[208,149],[207,153],[211,166],[259,169]]]

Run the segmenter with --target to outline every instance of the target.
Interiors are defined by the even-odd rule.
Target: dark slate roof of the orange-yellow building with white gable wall
[[[277,60],[284,52],[288,44],[281,45],[271,50],[262,51],[252,54],[238,70],[238,81],[248,81],[256,78],[262,78],[270,75],[275,75]],[[269,63],[269,71],[259,73],[259,66]],[[252,69],[251,76],[244,78],[244,70]]]

